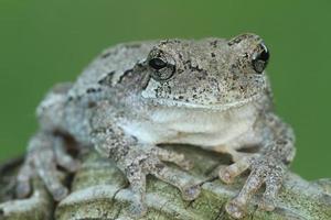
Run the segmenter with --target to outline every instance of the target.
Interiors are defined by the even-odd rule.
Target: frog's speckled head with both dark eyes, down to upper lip
[[[150,51],[145,99],[164,106],[223,110],[258,99],[269,52],[255,34],[231,40],[167,40]]]

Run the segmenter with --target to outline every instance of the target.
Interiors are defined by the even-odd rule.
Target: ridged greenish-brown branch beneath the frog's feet
[[[202,193],[194,201],[183,201],[177,188],[150,176],[147,186],[149,209],[141,219],[229,219],[224,206],[238,193],[245,177],[238,178],[234,185],[222,184],[213,177],[213,170],[220,164],[228,164],[228,158],[192,146],[173,148],[195,163],[189,173],[201,183]],[[17,166],[9,166],[2,173],[0,169],[0,201],[4,197],[9,198],[3,195],[12,195],[13,184],[11,188],[6,186],[12,183],[15,169]],[[128,208],[132,202],[132,194],[126,178],[109,161],[99,158],[95,153],[85,155],[83,167],[75,174],[71,185],[73,193],[57,205],[55,219],[129,219]],[[34,189],[29,199],[0,205],[0,219],[52,219],[54,204],[39,180],[34,182]],[[244,219],[331,219],[331,179],[310,183],[289,173],[273,212],[256,208],[260,194],[253,199]]]

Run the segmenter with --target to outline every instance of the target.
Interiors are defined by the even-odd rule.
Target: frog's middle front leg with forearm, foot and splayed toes
[[[199,184],[190,175],[162,163],[175,163],[188,169],[190,162],[182,154],[139,143],[136,138],[127,135],[118,127],[97,129],[93,134],[93,143],[103,156],[115,161],[126,175],[134,194],[131,212],[135,216],[142,216],[147,211],[146,176],[149,174],[175,186],[185,200],[193,200],[200,194]]]

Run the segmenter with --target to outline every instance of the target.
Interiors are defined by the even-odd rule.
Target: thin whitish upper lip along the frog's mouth
[[[257,99],[259,99],[263,95],[256,94],[249,98],[242,99],[235,102],[228,103],[213,103],[213,105],[202,105],[202,103],[194,103],[194,102],[185,102],[179,100],[171,100],[171,99],[162,99],[162,98],[147,98],[151,100],[153,103],[158,103],[160,106],[167,107],[179,107],[179,108],[188,108],[188,109],[196,109],[196,110],[211,110],[211,111],[226,111],[233,108],[238,108],[245,106],[246,103],[250,103]]]

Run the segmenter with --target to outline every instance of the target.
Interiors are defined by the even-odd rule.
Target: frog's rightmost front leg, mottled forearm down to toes
[[[234,218],[242,218],[245,215],[247,202],[263,184],[266,185],[266,190],[258,206],[268,211],[275,209],[275,200],[287,165],[295,156],[293,132],[277,116],[267,113],[255,129],[264,140],[259,152],[242,154],[234,164],[220,172],[223,182],[232,183],[236,176],[250,169],[250,175],[239,194],[225,207]]]

